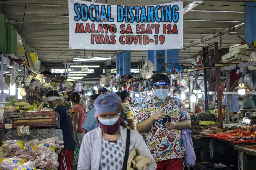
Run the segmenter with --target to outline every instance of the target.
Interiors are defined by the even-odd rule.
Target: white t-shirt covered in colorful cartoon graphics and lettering
[[[185,105],[181,99],[177,100],[179,100],[179,104],[175,99],[164,102],[146,101],[139,109],[137,122],[146,120],[159,111],[165,111],[174,122],[190,120]],[[153,122],[150,129],[145,132],[145,141],[156,162],[185,156],[181,130],[167,129],[162,120]]]

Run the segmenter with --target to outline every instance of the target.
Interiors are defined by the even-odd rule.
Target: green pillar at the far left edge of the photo
[[[6,23],[5,14],[0,14],[0,51],[3,54],[7,52],[7,40],[6,40]],[[17,42],[16,42],[17,43]]]

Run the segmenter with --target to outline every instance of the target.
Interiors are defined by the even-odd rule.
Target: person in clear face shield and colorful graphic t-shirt
[[[137,131],[145,132],[157,169],[184,169],[181,130],[190,128],[189,114],[181,99],[170,96],[170,80],[166,75],[156,74],[152,83],[151,100],[143,103],[139,110]]]

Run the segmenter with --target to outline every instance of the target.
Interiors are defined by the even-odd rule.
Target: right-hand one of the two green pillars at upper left
[[[14,54],[17,48],[17,30],[13,28],[11,23],[7,25],[7,53]]]

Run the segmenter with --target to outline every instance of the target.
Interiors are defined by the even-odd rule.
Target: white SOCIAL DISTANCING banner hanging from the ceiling
[[[69,48],[183,48],[183,2],[122,6],[69,0]]]

